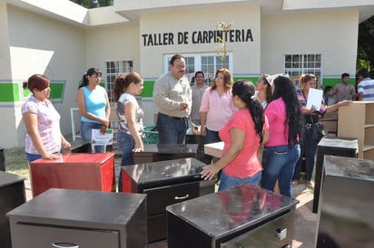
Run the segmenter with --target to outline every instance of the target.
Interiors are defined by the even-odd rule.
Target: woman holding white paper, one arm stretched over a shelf
[[[322,98],[322,90],[317,90],[317,78],[313,74],[303,74],[300,77],[301,90],[297,92],[304,116],[304,133],[300,139],[300,159],[293,172],[292,186],[297,186],[300,180],[302,157],[305,157],[305,180],[310,189],[314,189],[311,179],[314,168],[314,157],[320,140],[312,138],[312,126],[320,122],[325,113],[338,110],[340,106],[347,105],[349,100],[343,100],[327,106]]]

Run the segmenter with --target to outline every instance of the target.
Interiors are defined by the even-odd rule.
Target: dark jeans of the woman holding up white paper
[[[293,180],[300,180],[302,157],[305,157],[305,180],[310,181],[314,169],[314,157],[317,151],[318,140],[312,138],[313,131],[310,128],[304,128],[304,135],[301,139],[300,159],[293,173]]]

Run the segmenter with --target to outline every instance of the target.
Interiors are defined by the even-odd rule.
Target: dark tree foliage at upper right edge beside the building
[[[357,68],[374,70],[374,15],[359,24]]]

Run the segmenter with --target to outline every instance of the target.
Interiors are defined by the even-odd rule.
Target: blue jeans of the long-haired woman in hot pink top
[[[274,190],[275,183],[280,186],[281,195],[292,196],[291,180],[293,170],[300,157],[300,146],[288,145],[278,147],[265,147],[262,153],[261,187]]]

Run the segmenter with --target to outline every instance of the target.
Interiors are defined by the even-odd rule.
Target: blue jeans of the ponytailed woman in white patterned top
[[[123,133],[121,131],[117,132],[117,145],[121,149],[122,159],[120,173],[118,176],[118,192],[123,192],[122,187],[122,167],[130,166],[133,164],[132,151],[135,148],[135,140],[130,134]]]

